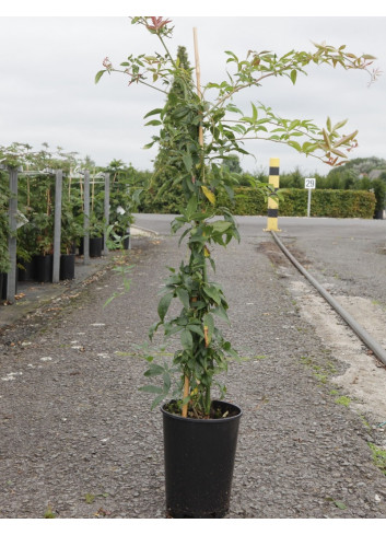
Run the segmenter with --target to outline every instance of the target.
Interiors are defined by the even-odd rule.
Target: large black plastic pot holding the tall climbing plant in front
[[[222,519],[229,512],[238,424],[236,405],[213,402],[230,417],[194,419],[164,405],[166,514],[174,519]]]

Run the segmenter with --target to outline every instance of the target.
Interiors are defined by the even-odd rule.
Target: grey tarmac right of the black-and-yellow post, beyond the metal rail
[[[331,293],[361,295],[386,305],[386,221],[319,220],[294,231],[282,221],[280,239]],[[329,224],[326,224],[328,221]]]

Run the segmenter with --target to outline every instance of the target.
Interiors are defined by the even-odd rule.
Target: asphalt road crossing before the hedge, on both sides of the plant
[[[171,233],[174,216],[136,216],[136,224]],[[266,217],[236,217],[243,239],[271,241]],[[340,293],[373,299],[386,306],[386,220],[279,218],[280,240],[313,276]]]

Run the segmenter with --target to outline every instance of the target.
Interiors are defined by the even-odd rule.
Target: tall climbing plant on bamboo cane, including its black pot
[[[121,72],[129,85],[142,84],[162,92],[164,100],[167,97],[163,106],[145,115],[147,125],[160,130],[147,147],[159,143],[167,154],[164,165],[168,173],[160,194],[177,185],[182,188],[185,203],[172,222],[172,231],[182,233],[179,243],[185,241],[188,249],[187,260],[182,260],[178,268],[168,268],[157,306],[159,321],[150,328],[151,339],[160,328],[166,338],[179,338],[179,349],[172,363],[160,364],[148,357],[145,376],[161,379],[161,384],[142,389],[155,395],[153,406],[163,404],[167,514],[221,517],[230,507],[242,415],[238,406],[223,400],[226,388],[219,382],[219,373],[226,372],[229,362],[238,358],[218,326],[218,319],[229,321],[229,303],[214,280],[213,247],[226,247],[232,240],[239,240],[232,212],[218,202],[221,195],[233,199],[237,185],[237,174],[223,163],[234,154],[247,154],[243,140],[255,138],[285,143],[299,153],[339,165],[355,147],[358,133],[340,133],[346,120],[334,125],[327,119],[325,127],[318,127],[312,120],[284,119],[260,103],[252,103],[246,114],[236,97],[247,88],[257,90],[267,78],[288,78],[294,84],[309,63],[369,71],[373,57],[358,57],[344,46],[325,44],[316,45],[312,53],[291,50],[282,57],[249,50],[239,59],[226,51],[227,79],[201,89],[198,56],[195,88],[192,69],[169,53],[169,20],[136,16],[132,24],[154,34],[161,51],[131,55],[119,68],[105,58],[95,82],[106,72]],[[376,71],[370,74],[375,79]],[[171,97],[169,89],[176,83],[180,91]],[[276,195],[267,184],[255,186],[267,197]],[[180,305],[175,316],[169,313],[173,300]]]

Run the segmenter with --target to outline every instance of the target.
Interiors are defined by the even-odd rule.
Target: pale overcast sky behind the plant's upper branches
[[[105,57],[118,66],[129,54],[160,50],[155,36],[142,26],[131,25],[129,15],[138,14],[139,9],[126,13],[130,5],[103,14],[96,8],[90,8],[86,14],[61,10],[59,14],[67,16],[25,9],[0,18],[0,144],[27,142],[38,150],[47,142],[51,149],[60,146],[79,152],[81,158],[89,155],[97,165],[118,159],[137,168],[152,167],[156,150],[144,150],[143,146],[155,130],[143,126],[143,116],[163,105],[163,95],[140,85],[129,88],[126,77],[117,73],[94,83]],[[265,86],[248,91],[237,104],[247,113],[250,101],[262,102],[283,117],[314,119],[320,126],[327,116],[332,123],[349,118],[342,132],[359,129],[360,146],[352,158],[386,159],[385,16],[375,16],[369,9],[366,16],[299,15],[309,14],[307,10],[292,10],[296,16],[242,12],[241,16],[230,16],[225,9],[221,13],[226,16],[213,16],[213,12],[185,16],[175,5],[167,3],[178,16],[163,13],[173,19],[175,26],[171,50],[186,46],[194,65],[192,28],[197,27],[202,84],[226,79],[224,50],[239,57],[249,49],[284,54],[292,48],[313,50],[312,42],[326,40],[334,46],[346,44],[356,55],[376,56],[374,65],[383,75],[370,88],[365,72],[319,67],[309,69],[308,77],[299,77],[295,85],[288,79],[270,79]],[[299,166],[312,176],[315,171],[326,174],[330,170],[277,143],[260,141],[246,148],[256,160],[243,158],[245,171],[266,171],[272,156],[280,158],[282,171]]]

